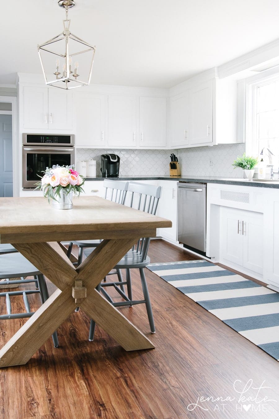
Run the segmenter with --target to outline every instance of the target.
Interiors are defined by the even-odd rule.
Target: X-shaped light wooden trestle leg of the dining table
[[[152,342],[95,289],[137,239],[104,240],[76,269],[58,243],[13,244],[58,290],[0,350],[0,367],[26,364],[76,306],[80,306],[125,350],[154,348]],[[76,281],[82,281],[86,288],[86,298],[82,302],[75,302],[72,297]]]

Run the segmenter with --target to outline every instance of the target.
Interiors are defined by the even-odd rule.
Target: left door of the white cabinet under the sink
[[[242,211],[221,207],[220,261],[243,265]]]

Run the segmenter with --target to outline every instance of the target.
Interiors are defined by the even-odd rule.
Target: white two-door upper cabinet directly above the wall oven
[[[50,87],[23,87],[24,129],[72,129],[72,93]]]

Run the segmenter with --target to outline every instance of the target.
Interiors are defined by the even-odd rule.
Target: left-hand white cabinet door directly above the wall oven
[[[23,127],[48,128],[48,88],[23,87]]]

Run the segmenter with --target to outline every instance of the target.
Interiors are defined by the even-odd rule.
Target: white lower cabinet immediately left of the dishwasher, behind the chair
[[[172,221],[172,227],[158,228],[157,235],[170,241],[177,241],[177,183],[159,181],[162,195],[158,204],[157,215]]]

